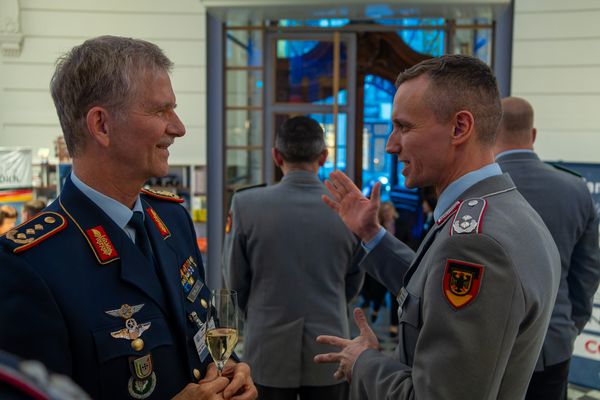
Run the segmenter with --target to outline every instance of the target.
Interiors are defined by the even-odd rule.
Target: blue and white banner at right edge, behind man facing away
[[[596,204],[596,212],[600,214],[600,164],[552,164],[581,174]],[[569,382],[600,389],[600,290],[594,295],[592,317],[575,339]]]

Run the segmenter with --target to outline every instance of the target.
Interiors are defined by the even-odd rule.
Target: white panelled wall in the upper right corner
[[[545,160],[600,163],[600,2],[515,0],[512,95]]]

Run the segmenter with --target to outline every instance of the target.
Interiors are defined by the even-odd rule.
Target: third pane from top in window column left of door
[[[261,146],[262,111],[227,110],[226,146]]]

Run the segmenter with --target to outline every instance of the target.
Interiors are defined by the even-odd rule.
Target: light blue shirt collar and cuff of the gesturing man
[[[492,163],[483,168],[479,168],[478,170],[471,171],[449,184],[438,198],[435,210],[433,210],[433,218],[437,221],[465,190],[490,176],[496,175],[502,175],[502,170],[497,163]],[[362,243],[362,246],[367,253],[373,250],[375,246],[381,242],[381,239],[385,236],[385,232],[385,228],[381,227],[373,239],[368,243]]]

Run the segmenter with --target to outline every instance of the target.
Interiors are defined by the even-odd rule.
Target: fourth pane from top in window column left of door
[[[225,152],[226,185],[246,186],[263,182],[262,149]]]

